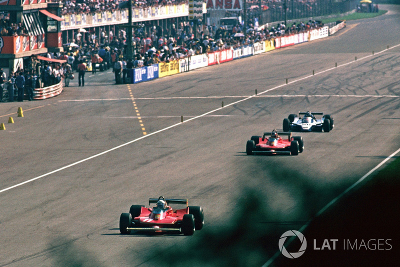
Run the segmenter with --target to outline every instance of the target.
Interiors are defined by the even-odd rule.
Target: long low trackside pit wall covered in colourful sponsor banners
[[[340,26],[339,26],[340,27]],[[298,43],[313,41],[329,36],[329,27],[321,27],[306,32],[300,32],[287,36],[277,37],[271,40],[255,42],[250,45],[242,45],[220,51],[207,52],[192,55],[187,58],[176,59],[170,62],[162,62],[150,66],[130,69],[131,83],[152,80],[158,77],[174,75],[184,71],[190,71],[199,67],[220,64],[227,61],[248,57],[274,49],[279,49]]]

